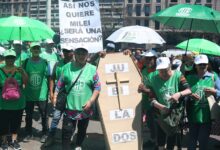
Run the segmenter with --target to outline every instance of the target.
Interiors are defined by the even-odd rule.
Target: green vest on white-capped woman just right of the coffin
[[[159,103],[170,107],[170,96],[179,92],[180,78],[182,73],[174,71],[173,75],[168,80],[163,80],[159,77],[159,73],[154,73],[149,76],[149,86],[156,94]]]

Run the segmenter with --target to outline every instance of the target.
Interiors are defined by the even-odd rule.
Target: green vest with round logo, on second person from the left
[[[28,83],[25,88],[27,101],[45,101],[48,96],[49,65],[46,60],[35,62],[31,58],[24,66],[28,74]]]

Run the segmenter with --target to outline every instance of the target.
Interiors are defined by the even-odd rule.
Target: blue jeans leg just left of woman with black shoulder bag
[[[62,114],[63,112],[55,108],[53,112],[53,119],[51,121],[50,129],[49,129],[50,136],[55,135]]]

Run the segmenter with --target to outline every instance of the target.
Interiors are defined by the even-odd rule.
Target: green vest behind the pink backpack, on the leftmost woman
[[[8,74],[8,76],[11,76],[11,74]],[[4,86],[6,75],[3,73],[3,71],[0,69],[0,93],[2,93],[2,88]],[[2,94],[0,96],[0,109],[2,110],[20,110],[25,108],[25,95],[24,90],[22,88],[22,76],[20,73],[15,73],[14,78],[17,80],[20,91],[21,91],[21,97],[18,100],[11,100],[6,101],[2,99]]]

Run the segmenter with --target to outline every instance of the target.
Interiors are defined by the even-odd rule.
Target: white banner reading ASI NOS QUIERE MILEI
[[[97,0],[59,0],[60,41],[89,53],[103,50],[99,3]]]

